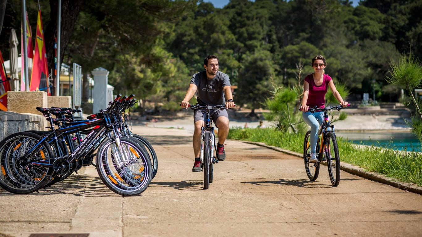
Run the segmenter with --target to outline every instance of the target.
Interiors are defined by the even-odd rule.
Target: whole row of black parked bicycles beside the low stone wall
[[[84,120],[72,108],[41,108],[49,131],[25,131],[0,143],[0,186],[29,194],[94,165],[103,183],[122,196],[136,196],[157,174],[154,148],[129,126],[135,95],[119,94],[109,107]],[[95,158],[95,160],[94,160]]]

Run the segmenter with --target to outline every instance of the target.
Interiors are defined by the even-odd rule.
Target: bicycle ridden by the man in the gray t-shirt
[[[218,163],[218,159],[214,155],[214,151],[216,151],[216,143],[215,143],[215,134],[214,134],[214,127],[212,127],[212,120],[210,115],[211,109],[221,109],[224,110],[226,105],[189,105],[188,108],[192,110],[200,109],[205,112],[205,126],[202,127],[201,132],[201,171],[204,172],[204,189],[209,188],[209,184],[213,182],[214,178],[214,164]]]

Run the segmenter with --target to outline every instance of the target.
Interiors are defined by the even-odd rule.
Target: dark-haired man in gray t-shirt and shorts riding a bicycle
[[[204,59],[204,69],[201,72],[192,75],[189,83],[189,89],[181,102],[181,107],[188,108],[189,100],[197,93],[197,103],[199,105],[226,105],[227,108],[234,106],[233,94],[230,86],[229,76],[220,72],[218,57],[209,55]],[[218,128],[217,159],[224,161],[226,153],[224,151],[224,142],[229,134],[229,115],[227,110],[219,108],[211,111],[211,118]],[[201,171],[200,147],[201,147],[201,128],[205,125],[203,110],[194,111],[195,131],[192,138],[193,151],[195,154],[195,163],[192,172]]]

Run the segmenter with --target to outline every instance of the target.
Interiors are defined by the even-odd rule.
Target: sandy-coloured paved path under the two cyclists
[[[300,158],[234,140],[203,190],[203,173],[191,172],[192,132],[133,131],[159,158],[140,196],[114,194],[92,166],[39,193],[0,190],[0,237],[421,236],[419,194],[344,171],[332,187],[325,167],[311,182]]]

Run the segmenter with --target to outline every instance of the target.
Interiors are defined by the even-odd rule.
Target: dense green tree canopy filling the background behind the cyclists
[[[39,3],[52,68],[57,1]],[[10,30],[20,31],[21,4],[7,1],[0,38],[5,60]],[[27,1],[32,28],[37,10],[36,1]],[[357,7],[348,0],[230,0],[224,8],[203,0],[64,1],[61,61],[81,65],[85,79],[106,68],[119,93],[174,103],[190,76],[203,70],[203,58],[216,54],[220,70],[238,86],[236,103],[257,108],[271,83],[292,86],[296,65],[304,63],[304,77],[322,54],[326,73],[354,99],[375,88],[376,100],[397,101],[398,91],[385,80],[389,62],[410,51],[421,58],[421,12],[422,0],[362,0]]]

